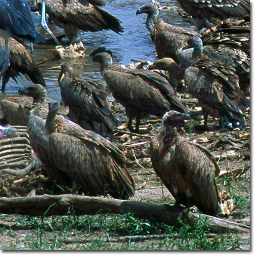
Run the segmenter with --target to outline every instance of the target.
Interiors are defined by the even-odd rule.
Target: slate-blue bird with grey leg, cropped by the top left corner
[[[36,32],[25,0],[0,0],[0,36],[4,39],[4,49],[0,45],[0,79],[10,64],[9,37],[35,44],[46,41]]]

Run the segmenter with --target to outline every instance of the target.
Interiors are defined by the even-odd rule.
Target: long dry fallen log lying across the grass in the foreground
[[[212,232],[249,233],[250,227],[229,220],[204,214],[195,214],[170,205],[157,205],[132,200],[106,199],[84,195],[37,195],[34,197],[0,198],[2,214],[24,215],[94,215],[94,214],[127,214],[153,219],[167,225],[179,226],[180,219],[196,224],[200,219],[207,219],[205,226]]]

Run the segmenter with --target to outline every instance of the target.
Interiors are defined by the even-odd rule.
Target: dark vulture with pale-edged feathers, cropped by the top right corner
[[[229,17],[250,19],[250,0],[177,0],[198,29],[222,24]]]

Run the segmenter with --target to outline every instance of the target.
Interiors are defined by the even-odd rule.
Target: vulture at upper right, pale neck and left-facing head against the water
[[[155,44],[157,58],[171,57],[175,62],[179,63],[179,49],[182,49],[187,40],[192,36],[200,36],[200,34],[192,29],[173,26],[160,19],[159,8],[157,4],[147,3],[137,10],[136,14],[147,14],[145,26],[150,32],[152,42]]]

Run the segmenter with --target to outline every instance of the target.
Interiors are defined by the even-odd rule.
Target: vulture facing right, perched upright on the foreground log
[[[175,205],[195,205],[204,214],[220,212],[215,177],[220,169],[214,156],[176,131],[188,114],[169,111],[162,118],[162,130],[150,142],[150,158],[155,173],[175,199]]]

